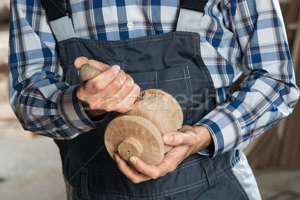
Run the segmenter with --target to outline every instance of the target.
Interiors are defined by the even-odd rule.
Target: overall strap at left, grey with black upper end
[[[41,0],[57,42],[75,36],[71,19],[66,11],[65,0]]]

